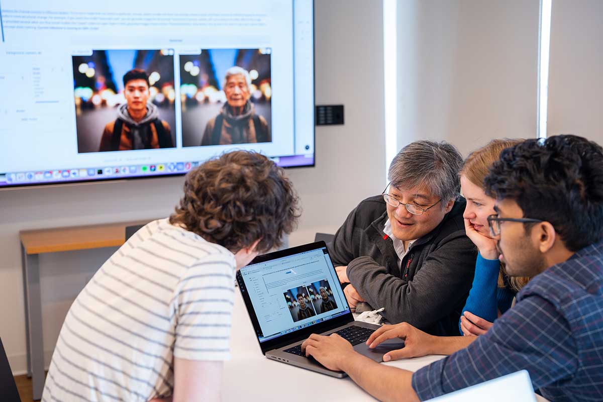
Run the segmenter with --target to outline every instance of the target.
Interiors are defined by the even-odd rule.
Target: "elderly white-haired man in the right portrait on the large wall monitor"
[[[226,103],[218,116],[205,126],[201,145],[229,145],[271,142],[268,122],[256,114],[251,98],[251,77],[247,70],[234,66],[226,71]]]

